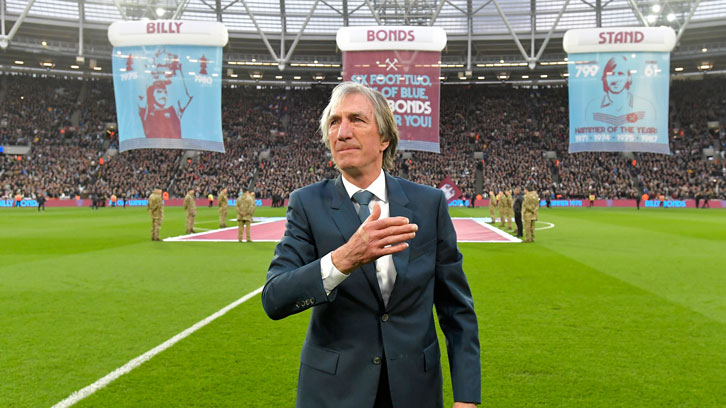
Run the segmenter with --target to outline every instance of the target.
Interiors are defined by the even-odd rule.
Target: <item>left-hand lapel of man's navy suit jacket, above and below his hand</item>
[[[330,212],[335,225],[343,235],[343,242],[348,242],[350,237],[352,237],[358,230],[358,227],[360,227],[360,218],[358,218],[358,213],[355,211],[353,202],[350,200],[348,193],[345,191],[341,175],[335,179],[333,189],[335,191],[331,193],[332,199],[330,201]],[[368,280],[368,285],[370,286],[371,291],[375,294],[378,303],[383,304],[381,288],[378,286],[378,278],[376,278],[375,263],[371,262],[367,265],[363,265],[360,269],[363,271],[363,275],[365,275],[366,280]]]

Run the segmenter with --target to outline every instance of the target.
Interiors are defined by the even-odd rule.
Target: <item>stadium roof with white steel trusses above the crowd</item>
[[[561,39],[572,28],[671,26],[679,34],[673,66],[698,72],[726,65],[726,0],[4,0],[3,68],[110,68],[106,29],[115,21],[221,21],[230,33],[225,68],[266,78],[312,72],[336,76],[343,26],[434,25],[449,41],[442,75],[456,79],[496,72],[558,73]],[[12,27],[8,29],[9,27]],[[544,45],[544,47],[543,47]],[[76,57],[83,63],[76,63]],[[28,60],[26,63],[25,60]],[[81,61],[81,59],[78,59]],[[91,62],[93,61],[93,62]],[[284,63],[285,69],[278,69]],[[96,68],[98,70],[98,68]],[[91,71],[93,72],[93,71]],[[274,73],[274,74],[273,74]],[[274,76],[273,76],[274,75]]]

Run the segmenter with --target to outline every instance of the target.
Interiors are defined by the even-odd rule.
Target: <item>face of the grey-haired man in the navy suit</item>
[[[388,142],[381,141],[373,104],[360,93],[345,96],[330,115],[330,150],[343,173],[377,176]]]

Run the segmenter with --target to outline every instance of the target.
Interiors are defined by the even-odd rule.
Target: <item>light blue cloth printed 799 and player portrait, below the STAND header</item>
[[[670,53],[569,54],[570,153],[670,154]]]

